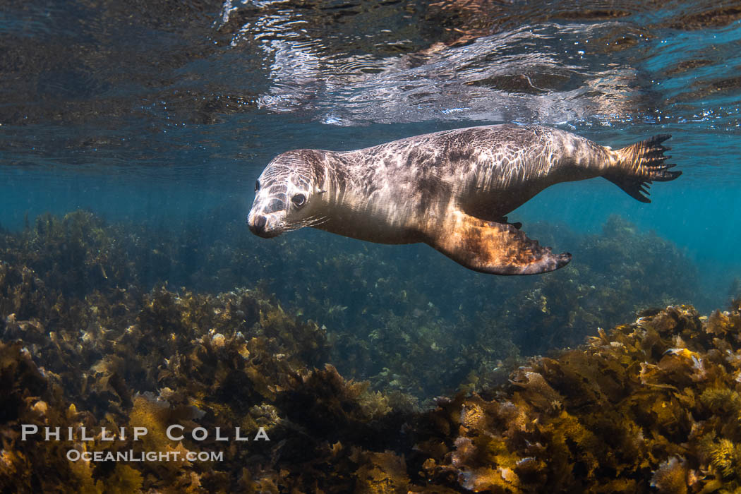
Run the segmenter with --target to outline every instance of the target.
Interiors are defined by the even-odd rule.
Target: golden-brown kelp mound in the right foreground
[[[675,306],[534,359],[508,389],[439,404],[432,415],[455,432],[428,450],[428,480],[454,472],[476,492],[734,492],[740,336],[738,308],[703,318]]]

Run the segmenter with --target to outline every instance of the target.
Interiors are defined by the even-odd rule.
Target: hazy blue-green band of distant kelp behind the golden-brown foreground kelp
[[[236,206],[226,207],[232,216]],[[576,260],[518,280],[462,272],[425,246],[348,247],[308,231],[259,241],[221,216],[164,230],[109,224],[85,211],[44,215],[1,234],[0,259],[34,270],[68,298],[137,298],[165,282],[201,293],[261,287],[289,312],[328,328],[330,362],[343,375],[419,398],[461,383],[470,390],[496,384],[518,355],[574,346],[637,310],[700,300],[694,267],[677,247],[617,216],[591,236],[533,225],[547,244],[568,236],[563,243],[576,247]],[[432,361],[445,361],[445,369]]]

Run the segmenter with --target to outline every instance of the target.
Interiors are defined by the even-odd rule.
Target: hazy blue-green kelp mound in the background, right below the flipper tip
[[[554,227],[541,227],[541,243],[554,244]],[[697,268],[685,254],[624,218],[610,216],[600,234],[571,234],[568,244],[574,253],[568,267],[524,290],[508,290],[499,324],[517,328],[514,343],[522,353],[579,344],[595,327],[613,327],[650,307],[705,304],[695,290]]]

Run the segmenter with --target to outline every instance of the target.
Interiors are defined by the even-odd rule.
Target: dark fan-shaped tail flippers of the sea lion
[[[615,151],[617,167],[605,173],[604,177],[629,196],[641,202],[651,202],[647,197],[651,182],[670,181],[682,175],[682,172],[669,170],[674,164],[665,163],[671,156],[664,156],[664,152],[671,148],[662,142],[668,138],[671,138],[669,134],[661,134]]]

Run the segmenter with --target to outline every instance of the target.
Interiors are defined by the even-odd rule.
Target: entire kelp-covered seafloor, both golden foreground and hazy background
[[[578,267],[440,298],[362,250],[239,247],[243,225],[204,244],[84,211],[27,223],[0,232],[3,493],[741,490],[741,303],[682,305],[700,300],[691,262],[621,218],[571,235]],[[23,441],[23,424],[94,438]]]

